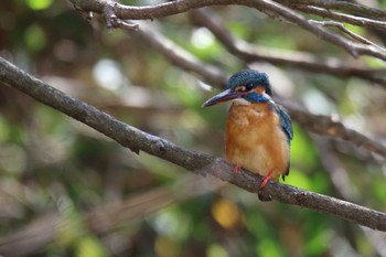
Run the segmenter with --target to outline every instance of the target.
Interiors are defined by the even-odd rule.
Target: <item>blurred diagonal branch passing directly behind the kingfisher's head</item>
[[[138,31],[141,39],[150,44],[156,51],[161,53],[171,63],[176,64],[186,71],[199,74],[202,79],[216,87],[224,87],[225,74],[213,66],[205,65],[194,58],[182,47],[158,33],[144,22],[139,23],[142,30]],[[329,116],[312,115],[299,109],[293,104],[280,100],[290,111],[291,118],[310,132],[343,139],[354,143],[358,148],[364,148],[386,158],[386,147],[353,129],[346,128],[342,122],[332,120]]]

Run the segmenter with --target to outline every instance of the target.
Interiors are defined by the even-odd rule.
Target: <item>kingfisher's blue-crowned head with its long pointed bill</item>
[[[268,76],[253,69],[243,69],[229,77],[227,89],[212,97],[203,107],[225,103],[232,99],[244,99],[250,104],[270,100],[272,89]]]

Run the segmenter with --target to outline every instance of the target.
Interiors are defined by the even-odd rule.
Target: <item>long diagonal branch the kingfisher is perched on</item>
[[[261,178],[248,171],[233,174],[232,167],[219,158],[183,149],[170,141],[143,132],[114,117],[67,96],[0,58],[0,79],[61,113],[88,125],[124,147],[159,157],[197,174],[211,174],[248,192],[257,193]],[[373,229],[386,231],[386,214],[326,195],[270,182],[265,189],[274,200],[331,214]]]

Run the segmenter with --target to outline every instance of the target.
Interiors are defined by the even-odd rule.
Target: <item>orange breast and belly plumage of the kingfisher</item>
[[[226,158],[260,175],[286,173],[290,151],[280,119],[267,103],[232,105],[225,133]]]

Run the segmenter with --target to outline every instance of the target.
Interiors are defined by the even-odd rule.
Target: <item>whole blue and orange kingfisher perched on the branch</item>
[[[262,178],[259,192],[269,180],[282,180],[290,171],[293,130],[287,110],[272,99],[267,74],[243,69],[232,75],[227,89],[206,100],[202,107],[232,100],[226,120],[226,159]],[[260,200],[262,200],[259,194]],[[268,201],[268,200],[267,200]]]

